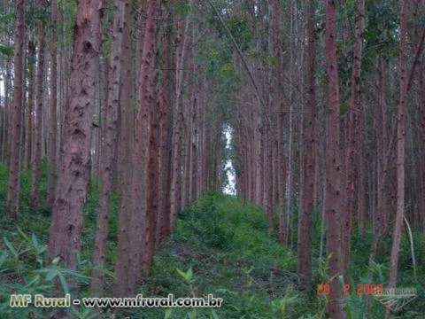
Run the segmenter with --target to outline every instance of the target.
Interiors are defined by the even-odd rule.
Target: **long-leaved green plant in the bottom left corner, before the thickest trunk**
[[[27,236],[19,228],[16,236],[9,240],[3,238],[0,246],[3,252],[0,255],[0,313],[2,318],[42,318],[49,315],[50,308],[34,307],[10,307],[10,296],[16,294],[42,294],[45,297],[53,297],[58,294],[75,292],[68,284],[87,284],[89,277],[63,268],[56,258],[50,264],[46,262],[46,245],[42,245],[33,233]]]

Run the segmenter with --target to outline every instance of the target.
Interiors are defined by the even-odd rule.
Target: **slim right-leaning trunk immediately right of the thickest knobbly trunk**
[[[93,252],[93,270],[91,291],[96,295],[104,292],[104,261],[106,259],[106,245],[108,238],[108,222],[110,214],[110,200],[112,193],[112,169],[114,168],[114,153],[117,140],[117,118],[120,103],[120,74],[121,74],[121,47],[122,30],[124,23],[125,0],[115,0],[113,11],[112,52],[108,72],[108,97],[104,114],[104,153],[101,167],[101,192],[99,200],[99,214],[97,215],[97,232],[95,249]]]

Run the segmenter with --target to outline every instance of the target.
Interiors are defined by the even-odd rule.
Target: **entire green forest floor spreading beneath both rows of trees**
[[[46,167],[42,169],[42,198],[45,193]],[[64,292],[66,280],[73,277],[80,282],[80,295],[91,296],[89,275],[94,242],[98,191],[91,186],[85,210],[84,245],[77,272],[48,265],[45,248],[49,238],[50,213],[28,208],[30,174],[21,178],[21,210],[17,221],[0,215],[0,318],[42,318],[51,310],[41,308],[11,308],[11,293],[51,293],[53,279],[58,277]],[[0,212],[4,210],[7,169],[0,167]],[[118,197],[112,198],[112,216],[108,242],[106,291],[112,297],[112,265],[118,224]],[[313,286],[328,281],[327,264],[319,262],[321,222],[313,215]],[[297,221],[294,221],[295,224]],[[296,229],[296,227],[294,227]],[[297,255],[293,249],[278,243],[267,234],[267,217],[257,207],[243,205],[238,198],[208,192],[196,205],[182,212],[174,233],[161,245],[153,261],[149,276],[141,283],[138,293],[144,297],[206,297],[213,294],[223,299],[220,308],[132,308],[125,311],[131,318],[325,318],[327,299],[299,289]],[[293,238],[296,238],[294,233]],[[344,298],[351,318],[383,318],[384,307],[374,297],[357,295],[356,286],[370,283],[369,272],[375,275],[375,284],[385,285],[390,259],[391,238],[383,238],[376,264],[368,268],[368,250],[371,232],[361,240],[356,232],[352,237],[350,267],[351,293]],[[425,283],[425,237],[413,233],[418,270],[418,282]],[[418,297],[406,305],[394,318],[425,318],[425,290],[413,278],[410,244],[403,237],[399,261],[399,287],[415,287]],[[62,279],[65,279],[62,281]],[[368,300],[368,301],[367,301]],[[117,318],[108,310],[74,309],[76,318]],[[125,316],[124,314],[122,317]]]

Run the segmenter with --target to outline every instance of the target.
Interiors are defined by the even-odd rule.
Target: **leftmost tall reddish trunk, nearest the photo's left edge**
[[[19,210],[19,174],[20,174],[20,130],[22,125],[22,90],[25,41],[25,1],[15,2],[15,36],[14,36],[14,79],[13,79],[13,112],[12,136],[9,165],[9,183],[7,189],[6,214],[17,217]]]

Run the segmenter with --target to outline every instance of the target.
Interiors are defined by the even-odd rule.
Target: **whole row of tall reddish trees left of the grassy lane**
[[[104,293],[113,193],[120,195],[113,294],[131,296],[177,214],[223,183],[228,102],[213,94],[227,85],[220,82],[225,58],[208,65],[208,51],[220,43],[204,38],[200,12],[207,8],[159,0],[2,4],[5,212],[18,216],[19,174],[31,168],[31,208],[45,202],[52,212],[49,258],[75,269],[89,183],[98,179],[97,295]]]

